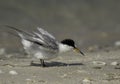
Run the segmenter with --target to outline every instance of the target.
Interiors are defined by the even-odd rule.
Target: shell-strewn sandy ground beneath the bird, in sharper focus
[[[89,52],[86,56],[67,53],[43,68],[39,60],[15,58],[0,60],[0,84],[120,84],[120,50]],[[13,56],[13,57],[12,57]]]

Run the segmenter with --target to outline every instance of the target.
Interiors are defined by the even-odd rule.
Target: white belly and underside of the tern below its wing
[[[22,40],[22,44],[26,52],[37,59],[52,59],[57,57],[58,51],[51,51],[27,40]]]

